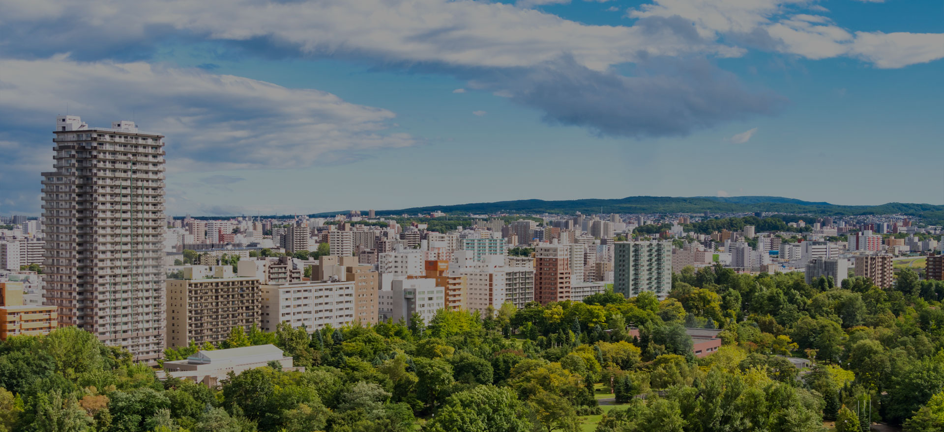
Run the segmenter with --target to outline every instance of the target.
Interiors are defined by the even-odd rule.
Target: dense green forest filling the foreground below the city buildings
[[[63,327],[0,343],[0,431],[944,431],[941,298],[909,270],[881,289],[689,267],[662,301],[607,291],[409,325],[238,327],[219,347],[166,350],[274,343],[306,368],[218,389],[160,381]],[[685,327],[720,329],[723,345],[696,357]]]

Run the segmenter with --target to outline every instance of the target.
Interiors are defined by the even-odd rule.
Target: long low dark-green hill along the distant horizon
[[[813,214],[818,216],[849,216],[868,214],[906,214],[932,221],[944,220],[944,206],[930,204],[888,203],[880,206],[840,206],[826,202],[802,201],[780,196],[629,196],[621,199],[579,200],[514,200],[494,203],[471,203],[454,206],[427,206],[376,210],[378,215],[400,215],[442,211],[450,215],[494,213],[735,213],[777,212]],[[363,211],[363,210],[362,210]],[[312,217],[333,216],[347,211],[315,213]]]

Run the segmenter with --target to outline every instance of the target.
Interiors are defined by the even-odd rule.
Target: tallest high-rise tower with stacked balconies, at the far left
[[[56,119],[55,169],[42,173],[45,303],[135,361],[164,346],[163,136],[132,122]]]

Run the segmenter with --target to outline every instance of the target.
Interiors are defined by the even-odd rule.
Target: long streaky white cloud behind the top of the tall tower
[[[50,130],[66,103],[90,125],[133,112],[183,170],[301,168],[416,143],[390,131],[389,110],[240,76],[65,57],[0,59],[0,70],[0,129]]]

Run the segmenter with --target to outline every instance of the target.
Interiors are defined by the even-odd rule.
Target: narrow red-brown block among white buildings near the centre
[[[534,301],[547,305],[570,300],[570,245],[540,244],[534,255]]]

